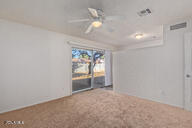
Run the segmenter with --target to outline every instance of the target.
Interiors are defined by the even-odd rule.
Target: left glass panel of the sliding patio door
[[[92,50],[72,48],[72,91],[91,88]]]

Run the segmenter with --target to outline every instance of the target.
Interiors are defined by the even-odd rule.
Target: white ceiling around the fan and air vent
[[[67,23],[88,18],[87,8],[102,9],[106,16],[125,20],[105,22],[113,32],[98,28],[85,34],[89,23]],[[137,12],[150,8],[152,14]],[[192,16],[192,0],[0,0],[0,17],[114,46],[126,46],[162,38],[162,25]],[[144,38],[136,40],[136,33]]]

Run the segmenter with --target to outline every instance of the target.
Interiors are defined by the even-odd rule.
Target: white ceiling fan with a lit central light
[[[90,13],[91,18],[70,20],[68,21],[68,23],[91,22],[87,30],[85,31],[85,34],[88,34],[94,28],[99,28],[101,26],[105,27],[108,31],[112,32],[113,30],[104,25],[104,22],[123,19],[123,17],[121,16],[105,16],[104,12],[101,9],[88,8],[88,11]]]

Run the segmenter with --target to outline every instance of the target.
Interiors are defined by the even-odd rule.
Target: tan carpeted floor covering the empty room
[[[24,125],[4,125],[23,120]],[[0,128],[192,128],[192,112],[95,89],[0,115]]]

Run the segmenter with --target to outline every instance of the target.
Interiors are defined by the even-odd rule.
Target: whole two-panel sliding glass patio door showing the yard
[[[72,48],[72,92],[105,86],[105,51]]]

